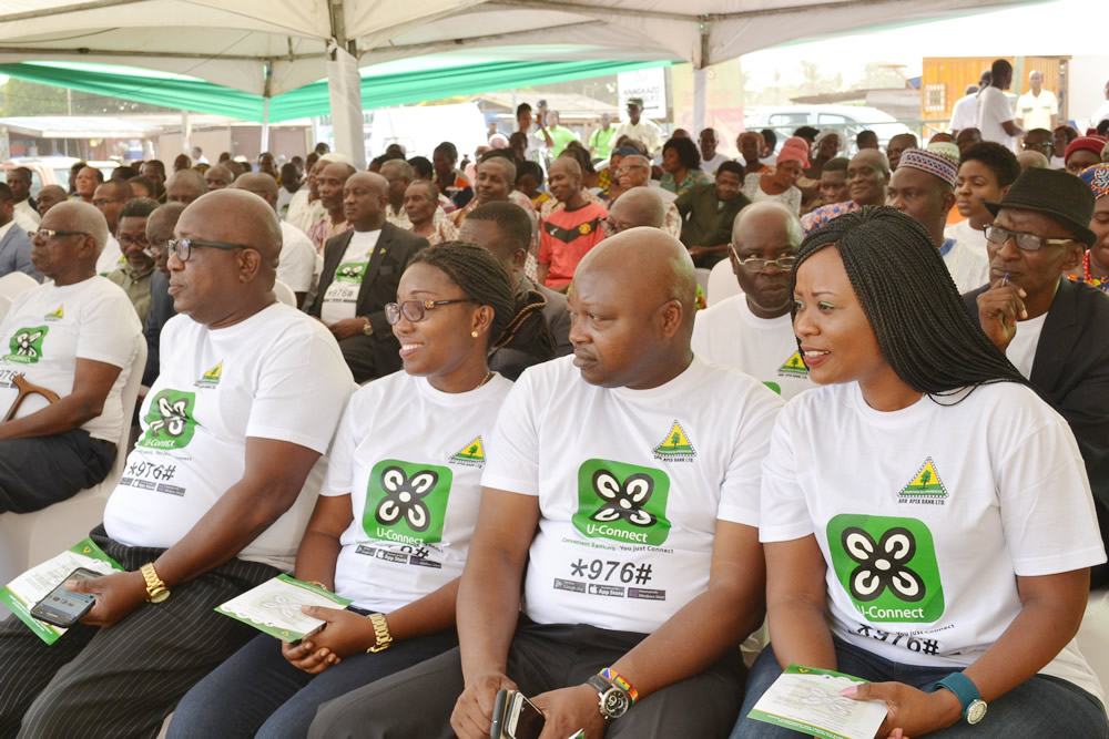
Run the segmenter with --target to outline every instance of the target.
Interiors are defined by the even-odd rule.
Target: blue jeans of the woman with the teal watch
[[[932,684],[955,669],[950,667],[922,667],[903,665],[883,659],[840,639],[835,642],[837,669],[841,673],[872,682],[897,681],[920,690],[930,690]],[[747,690],[731,739],[795,739],[790,729],[746,718],[751,709],[777,676],[782,674],[774,646],[770,645],[751,667]],[[974,737],[1005,737],[1005,739],[1042,739],[1044,737],[1081,737],[1106,739],[1109,722],[1101,701],[1077,685],[1048,675],[1037,675],[1013,690],[990,701],[981,723],[969,726],[959,721],[929,737],[963,739]],[[916,737],[914,737],[916,739]]]

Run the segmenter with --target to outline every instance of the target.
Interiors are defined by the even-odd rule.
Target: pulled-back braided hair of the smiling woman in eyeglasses
[[[554,356],[554,338],[547,327],[547,298],[529,290],[517,296],[508,270],[487,249],[466,242],[444,242],[421,249],[411,264],[442,270],[475,302],[494,311],[489,349],[510,347],[546,361]]]

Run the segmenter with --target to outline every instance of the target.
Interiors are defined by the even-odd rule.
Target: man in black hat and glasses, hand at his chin
[[[1028,170],[986,227],[989,285],[964,295],[986,336],[1070,424],[1109,540],[1109,297],[1071,283],[1096,242],[1093,193],[1066,172]],[[1029,430],[1032,432],[1032,430]],[[1106,565],[1092,586],[1109,583]]]

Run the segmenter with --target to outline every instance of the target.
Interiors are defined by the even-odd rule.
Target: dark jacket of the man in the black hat
[[[975,324],[978,296],[987,289],[989,285],[963,296]],[[1070,424],[1099,504],[1098,517],[1106,538],[1109,533],[1109,295],[1066,278],[1060,281],[1044,320],[1029,379]]]

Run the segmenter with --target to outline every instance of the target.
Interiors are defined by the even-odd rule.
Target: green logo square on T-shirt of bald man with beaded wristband
[[[590,538],[659,546],[670,536],[670,476],[662,470],[588,460],[578,470],[574,527]]]

